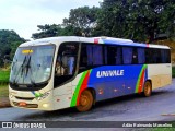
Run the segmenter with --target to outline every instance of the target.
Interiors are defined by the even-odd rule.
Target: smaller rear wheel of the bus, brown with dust
[[[152,93],[152,85],[150,81],[147,81],[144,83],[144,87],[143,87],[143,96],[149,97],[151,96]]]

